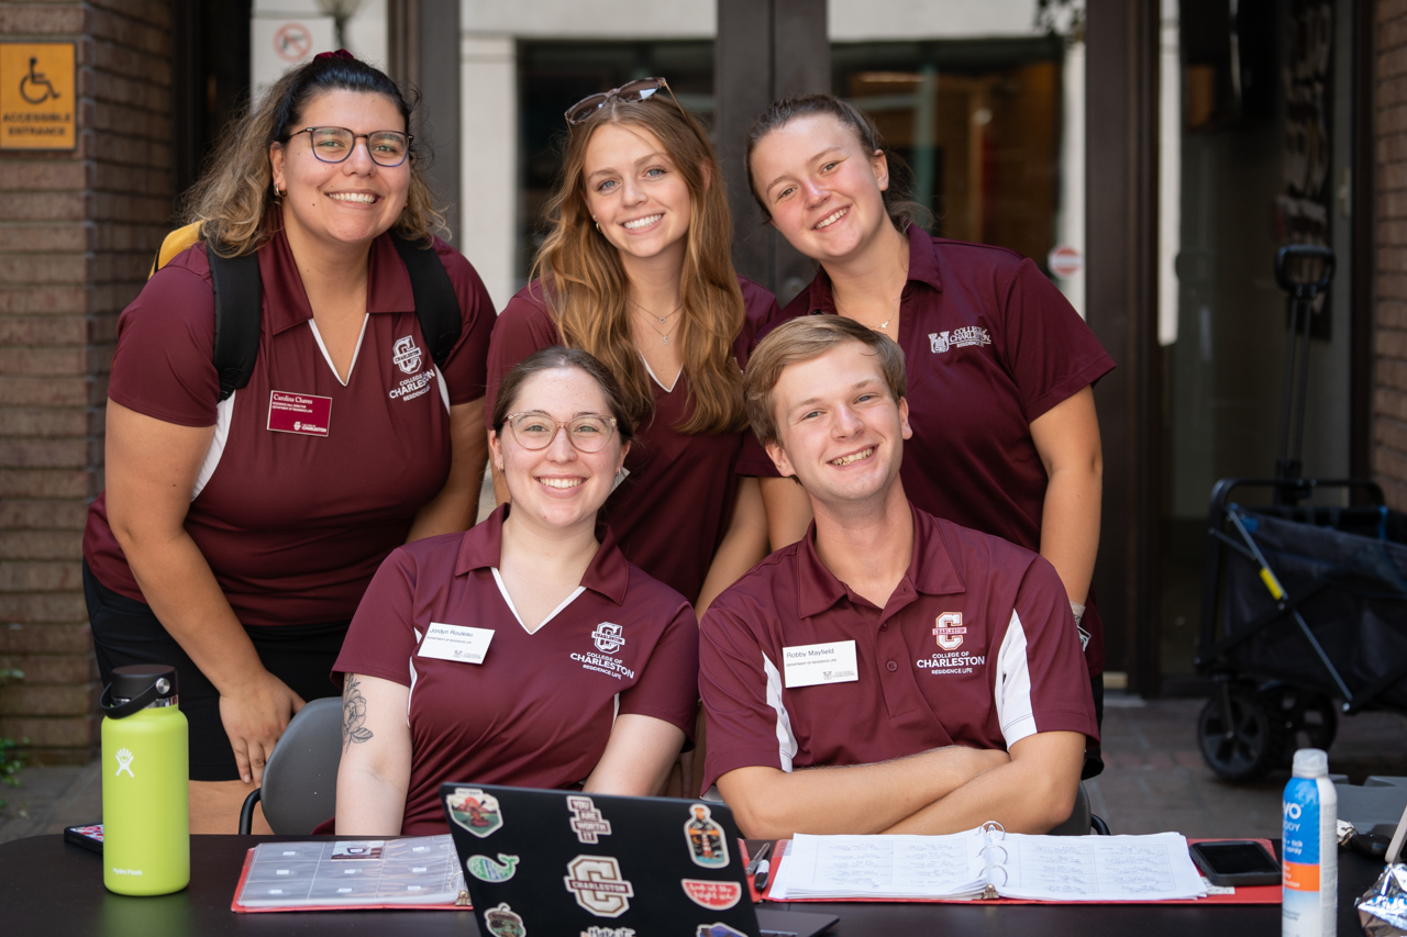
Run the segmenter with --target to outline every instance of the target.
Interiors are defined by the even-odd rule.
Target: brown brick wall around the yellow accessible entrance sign
[[[103,490],[117,314],[172,205],[170,3],[0,0],[0,37],[77,42],[79,146],[0,155],[0,736],[86,761],[97,670],[82,536]]]

